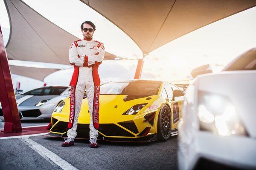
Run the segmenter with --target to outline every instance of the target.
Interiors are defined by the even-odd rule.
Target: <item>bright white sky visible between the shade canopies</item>
[[[96,25],[93,38],[104,42],[107,52],[123,58],[142,58],[141,50],[128,35],[79,0],[73,0],[73,3],[70,3],[70,0],[24,0],[24,2],[57,26],[79,38],[82,37],[80,24],[84,20],[91,20]],[[58,8],[55,8],[56,6]],[[76,13],[76,16],[82,17],[72,17],[75,11],[84,10],[89,13],[88,17],[83,17],[82,13]],[[4,11],[3,0],[0,0],[0,24],[7,42],[9,20]],[[211,64],[213,72],[219,72],[238,55],[256,47],[255,30],[256,7],[204,26],[149,53],[144,58],[141,78],[166,81],[191,79],[192,69],[204,64]],[[24,61],[9,61],[9,64],[63,69],[47,76],[44,79],[47,85],[68,85],[73,73],[73,69],[66,65]],[[104,61],[99,67],[99,75],[102,83],[133,79],[136,67],[137,60]],[[21,82],[20,88],[23,90],[44,84],[18,75],[12,75],[12,79],[14,87],[17,82]]]

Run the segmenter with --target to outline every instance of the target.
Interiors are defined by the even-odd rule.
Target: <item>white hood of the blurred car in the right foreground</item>
[[[200,91],[227,97],[236,107],[249,135],[256,138],[256,70],[202,75],[194,85]]]

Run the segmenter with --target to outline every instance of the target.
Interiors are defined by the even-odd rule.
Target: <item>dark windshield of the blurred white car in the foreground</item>
[[[252,49],[228,64],[223,71],[256,70],[256,49]]]

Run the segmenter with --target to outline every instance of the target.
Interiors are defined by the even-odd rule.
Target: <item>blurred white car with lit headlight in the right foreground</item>
[[[256,48],[189,85],[178,131],[180,170],[256,169]]]

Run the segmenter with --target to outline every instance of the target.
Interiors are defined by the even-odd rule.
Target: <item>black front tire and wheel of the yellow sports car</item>
[[[167,105],[161,108],[157,120],[157,139],[167,141],[171,136],[172,130],[171,110]]]

